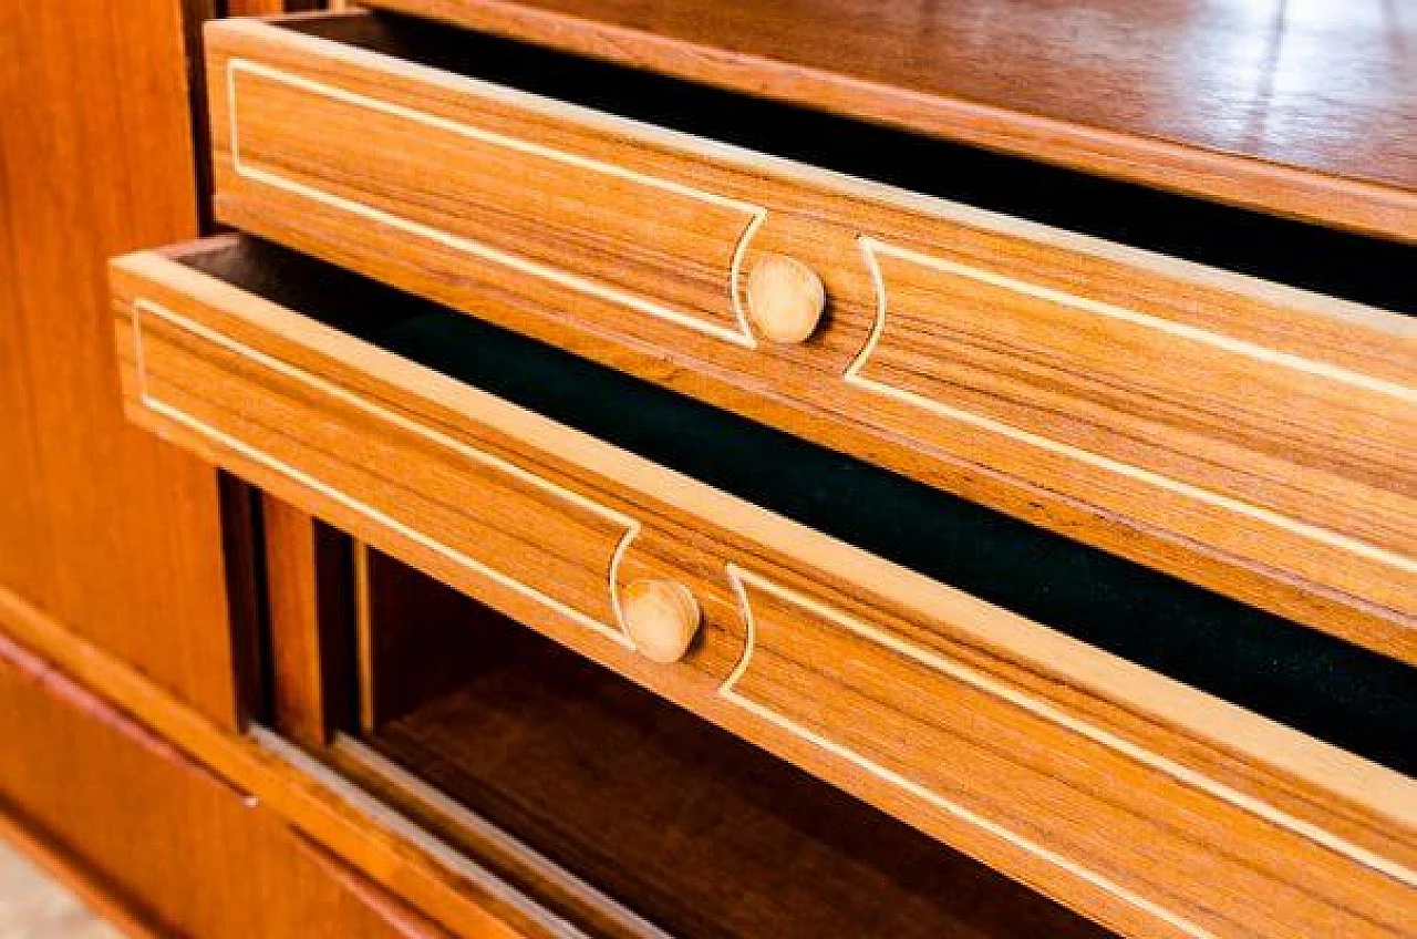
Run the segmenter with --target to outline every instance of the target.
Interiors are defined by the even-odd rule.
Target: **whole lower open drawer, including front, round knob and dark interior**
[[[142,426],[1088,916],[1138,935],[1410,926],[1407,667],[273,245],[135,254],[112,275]],[[547,417],[572,411],[622,445]],[[941,540],[956,523],[968,543]],[[1058,621],[820,528],[914,567],[993,539],[939,576]],[[1087,616],[1144,645],[1246,633],[1248,652],[1210,650],[1238,672],[1227,696],[1316,702],[1280,716],[1373,759],[1058,631]],[[1321,672],[1246,671],[1284,654]]]

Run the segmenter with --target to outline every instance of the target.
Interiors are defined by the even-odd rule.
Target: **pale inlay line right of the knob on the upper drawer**
[[[871,333],[862,346],[860,353],[856,359],[846,367],[843,373],[843,380],[847,384],[854,384],[856,387],[871,391],[873,394],[880,394],[883,397],[890,397],[904,404],[918,407],[921,410],[932,411],[941,417],[949,420],[956,420],[981,430],[986,430],[995,434],[1002,434],[1019,443],[1027,444],[1030,447],[1037,447],[1070,460],[1077,460],[1088,465],[1105,469],[1108,472],[1115,472],[1118,475],[1136,479],[1146,485],[1153,485],[1159,489],[1166,489],[1178,495],[1183,495],[1197,502],[1204,502],[1216,508],[1224,509],[1227,512],[1234,512],[1237,515],[1244,515],[1253,518],[1265,525],[1272,525],[1288,530],[1299,538],[1305,538],[1321,545],[1328,545],[1331,548],[1338,548],[1339,550],[1350,552],[1369,560],[1374,560],[1380,565],[1387,565],[1396,570],[1407,574],[1417,573],[1417,557],[1410,557],[1377,545],[1372,545],[1357,538],[1333,532],[1331,529],[1322,528],[1319,525],[1312,525],[1302,522],[1299,519],[1284,515],[1282,512],[1275,512],[1274,509],[1267,509],[1260,505],[1253,505],[1244,502],[1234,496],[1224,495],[1221,492],[1213,492],[1203,487],[1192,485],[1180,479],[1173,479],[1168,475],[1145,469],[1142,467],[1132,465],[1129,462],[1122,462],[1121,460],[1114,460],[1111,457],[1104,457],[1101,454],[1093,452],[1091,450],[1084,450],[1081,447],[1074,447],[1071,444],[1044,437],[1041,434],[1034,434],[1032,431],[1013,427],[1003,421],[986,417],[983,414],[976,414],[959,407],[952,407],[932,397],[927,397],[917,391],[910,391],[907,389],[896,387],[884,382],[877,382],[862,374],[862,369],[870,362],[871,353],[876,352],[876,346],[880,345],[881,336],[886,333],[886,318],[890,309],[890,298],[886,289],[886,278],[881,274],[880,262],[877,261],[877,254],[887,254],[897,257],[913,264],[921,264],[925,267],[932,267],[935,270],[944,271],[947,274],[955,274],[961,277],[968,277],[978,279],[993,287],[1002,287],[1006,289],[1013,289],[1020,294],[1027,294],[1046,299],[1054,304],[1063,304],[1067,306],[1074,306],[1090,313],[1100,316],[1110,316],[1114,319],[1121,319],[1138,326],[1145,326],[1149,329],[1156,329],[1175,335],[1180,339],[1187,339],[1193,342],[1203,342],[1219,349],[1234,355],[1248,356],[1268,365],[1275,365],[1287,369],[1294,369],[1298,372],[1308,372],[1309,374],[1321,376],[1335,382],[1342,382],[1353,387],[1360,387],[1379,394],[1387,394],[1396,397],[1401,401],[1410,401],[1417,404],[1417,389],[1411,389],[1394,382],[1386,382],[1367,374],[1360,374],[1349,369],[1343,369],[1325,362],[1315,362],[1312,359],[1305,359],[1302,356],[1295,356],[1287,352],[1280,352],[1275,349],[1267,349],[1264,346],[1246,342],[1241,339],[1234,339],[1231,336],[1223,336],[1219,333],[1207,332],[1204,329],[1197,329],[1186,323],[1176,323],[1158,316],[1149,316],[1131,309],[1124,309],[1121,306],[1114,306],[1111,304],[1102,304],[1100,301],[1087,299],[1084,296],[1076,296],[1064,291],[1053,289],[1039,284],[1029,284],[1015,278],[1003,277],[992,271],[983,271],[979,268],[968,267],[964,264],[956,264],[954,261],[947,261],[937,258],[920,251],[913,251],[910,248],[901,248],[897,245],[887,244],[877,238],[862,235],[857,238],[862,254],[866,258],[866,265],[870,271],[871,282],[876,288],[876,323],[871,326]]]

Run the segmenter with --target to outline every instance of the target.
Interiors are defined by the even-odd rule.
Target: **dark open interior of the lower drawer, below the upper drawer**
[[[1417,669],[255,238],[183,262],[1407,774]]]

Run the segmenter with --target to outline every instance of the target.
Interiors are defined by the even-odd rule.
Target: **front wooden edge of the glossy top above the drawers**
[[[371,6],[1175,193],[1417,240],[1417,194],[1393,186],[927,95],[514,0],[377,0]]]

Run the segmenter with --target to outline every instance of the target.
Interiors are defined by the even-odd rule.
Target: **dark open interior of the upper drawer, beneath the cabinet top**
[[[393,13],[285,28],[673,130],[1417,315],[1417,248]]]

